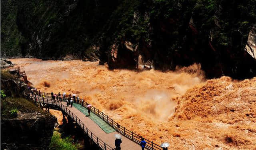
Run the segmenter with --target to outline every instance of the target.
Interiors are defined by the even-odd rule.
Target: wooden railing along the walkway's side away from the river
[[[34,97],[31,97],[34,98]],[[43,103],[43,104],[51,104],[51,105],[56,105],[60,109],[62,109],[67,115],[69,115],[79,126],[82,128],[82,130],[91,138],[102,150],[113,150],[111,146],[106,144],[104,141],[102,141],[100,138],[98,138],[95,134],[93,134],[87,127],[86,125],[78,118],[70,109],[67,109],[60,101],[49,101],[48,98],[45,98],[44,100],[41,97],[36,97],[38,99],[38,103]],[[66,109],[65,109],[66,108]]]

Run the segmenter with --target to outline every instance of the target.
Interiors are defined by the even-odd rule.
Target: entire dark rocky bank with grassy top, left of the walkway
[[[1,149],[48,150],[51,142],[54,116],[46,113],[28,98],[28,85],[18,76],[1,71]]]

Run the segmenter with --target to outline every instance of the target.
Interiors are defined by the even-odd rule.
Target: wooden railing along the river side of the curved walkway
[[[38,93],[38,91],[36,91]],[[51,93],[45,93],[45,92],[41,92],[41,95],[44,95],[45,97],[49,97],[52,96]],[[55,94],[58,95],[58,94]],[[63,96],[63,95],[61,95]],[[65,95],[65,97],[69,97],[69,95]],[[71,95],[71,97],[73,97]],[[76,97],[76,96],[74,96]],[[75,100],[74,100],[75,101]],[[78,103],[80,105],[82,105],[81,99],[78,99]],[[88,105],[87,102],[84,102],[83,107],[86,108],[86,106]],[[86,108],[87,109],[87,108]],[[114,121],[112,118],[108,117],[108,115],[104,114],[102,111],[99,111],[99,109],[97,109],[94,106],[91,106],[91,112],[98,115],[100,118],[102,118],[105,122],[107,122],[110,126],[112,126],[113,128],[115,128],[117,130],[117,132],[119,132],[120,134],[122,134],[123,136],[127,137],[128,139],[134,141],[137,144],[140,144],[141,142],[141,138],[143,138],[142,136],[134,133],[133,131],[128,130],[127,128],[125,128],[124,126],[121,126],[120,124],[118,124],[116,121]],[[145,147],[149,150],[162,150],[162,147],[158,144],[155,144],[153,141],[147,140],[146,138],[144,138],[144,140],[147,142],[147,144],[145,145]]]

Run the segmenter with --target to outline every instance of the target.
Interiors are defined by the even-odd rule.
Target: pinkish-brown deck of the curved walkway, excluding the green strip
[[[31,98],[34,99],[34,97],[31,97]],[[57,102],[56,101],[54,103],[52,101],[52,99],[50,99],[50,98],[45,98],[45,100],[43,102],[42,97],[37,97],[37,99],[39,99],[39,101],[37,101],[39,103],[51,104],[51,105],[56,105],[56,106],[60,107],[60,109],[62,109],[64,112],[66,112],[71,118],[74,117],[74,116],[72,117],[72,114],[76,115],[76,117],[74,117],[73,119],[74,119],[74,121],[76,121],[76,118],[77,118],[77,120],[79,119],[79,123],[78,123],[78,121],[76,121],[76,122],[78,123],[78,125],[80,124],[81,128],[84,127],[84,130],[85,130],[85,128],[88,128],[88,130],[90,130],[90,133],[93,133],[95,135],[95,138],[98,138],[107,144],[107,148],[101,147],[103,150],[104,149],[105,150],[109,150],[109,149],[115,150],[116,146],[114,144],[114,140],[115,140],[114,136],[115,136],[115,134],[119,134],[118,132],[114,131],[114,132],[107,134],[104,130],[102,130],[102,128],[100,128],[100,126],[98,126],[92,119],[90,119],[88,116],[83,114],[81,111],[79,111],[75,107],[70,107],[70,106],[67,107],[66,102]],[[81,124],[84,124],[84,126],[81,126]],[[85,130],[85,132],[86,132],[86,130]],[[88,133],[88,136],[90,138],[92,137],[92,136],[90,136],[89,133]],[[93,139],[94,142],[95,142],[95,138]],[[136,144],[129,138],[122,136],[121,150],[141,150],[141,147],[139,144]]]

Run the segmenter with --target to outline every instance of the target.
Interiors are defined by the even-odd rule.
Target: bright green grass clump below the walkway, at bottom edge
[[[61,134],[57,131],[53,132],[50,150],[78,150],[82,146],[80,144],[73,144],[72,138],[60,138]]]

